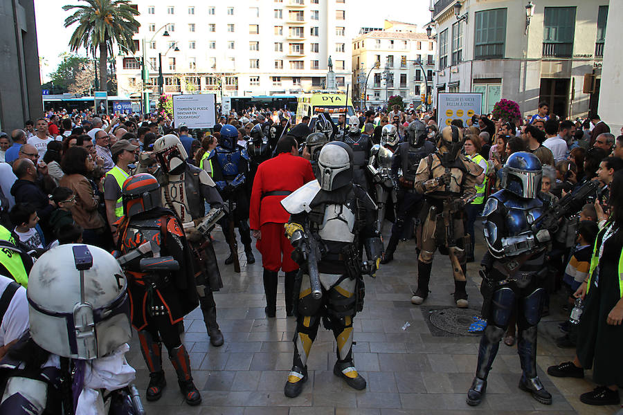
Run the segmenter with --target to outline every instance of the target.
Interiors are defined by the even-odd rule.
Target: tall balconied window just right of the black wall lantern
[[[543,57],[572,57],[575,7],[546,7],[543,17]]]

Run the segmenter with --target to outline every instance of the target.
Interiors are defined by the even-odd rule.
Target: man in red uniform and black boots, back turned
[[[294,277],[298,270],[298,264],[290,257],[294,248],[283,228],[290,214],[280,201],[305,183],[316,180],[309,160],[298,156],[294,137],[279,140],[275,153],[276,156],[261,163],[255,173],[249,210],[253,237],[258,240],[255,246],[262,254],[268,317],[276,314],[277,273],[280,269],[285,272],[286,315],[292,315]]]

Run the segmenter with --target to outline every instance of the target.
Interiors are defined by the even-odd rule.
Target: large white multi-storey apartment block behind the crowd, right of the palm
[[[142,91],[145,54],[157,92],[276,95],[321,89],[329,57],[338,89],[350,83],[346,0],[134,1],[141,28],[138,51],[116,58],[119,93]],[[143,46],[144,49],[143,50]],[[155,95],[152,95],[154,100]]]

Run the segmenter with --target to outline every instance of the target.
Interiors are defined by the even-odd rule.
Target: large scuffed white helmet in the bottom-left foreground
[[[101,358],[132,338],[126,290],[123,270],[102,248],[52,248],[28,277],[30,335],[59,356]]]

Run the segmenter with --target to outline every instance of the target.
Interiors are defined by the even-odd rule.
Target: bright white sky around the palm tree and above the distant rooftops
[[[264,2],[268,3],[269,0],[260,0],[260,4]],[[80,0],[35,0],[39,57],[43,62],[42,82],[48,82],[48,75],[56,70],[61,61],[59,55],[69,52],[67,45],[75,25],[64,27],[65,18],[70,12],[65,12],[62,6],[79,3]],[[431,12],[428,11],[429,0],[349,0],[347,4],[349,5],[347,17],[350,18],[347,19],[346,28],[350,37],[356,36],[361,27],[382,28],[384,19],[413,23],[421,28],[431,20]],[[352,7],[354,5],[356,7]],[[79,54],[86,55],[84,50]]]

